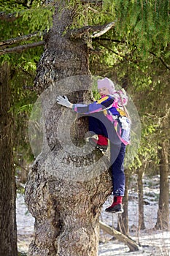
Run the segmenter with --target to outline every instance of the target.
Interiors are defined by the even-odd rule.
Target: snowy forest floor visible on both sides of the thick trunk
[[[102,230],[100,232],[98,256],[170,256],[170,232],[155,230],[158,211],[159,177],[144,178],[144,224],[145,229],[138,228],[138,200],[136,190],[136,176],[129,188],[128,224],[129,236],[140,244],[137,252],[129,252],[128,246],[115,240]],[[112,202],[110,196],[104,203],[101,213],[101,221],[110,227],[117,228],[117,214],[109,214],[104,208]],[[34,218],[28,212],[24,203],[24,197],[18,194],[17,198],[17,224],[18,224],[18,251],[26,255],[28,245],[34,232]],[[128,253],[127,253],[128,252]]]

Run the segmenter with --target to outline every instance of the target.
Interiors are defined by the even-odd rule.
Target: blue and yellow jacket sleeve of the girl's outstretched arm
[[[106,96],[98,99],[96,102],[90,103],[89,105],[84,104],[74,104],[73,109],[77,113],[89,114],[95,113],[108,108],[114,102],[114,98]]]

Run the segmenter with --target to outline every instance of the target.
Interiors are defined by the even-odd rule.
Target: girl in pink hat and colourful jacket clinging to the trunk
[[[124,157],[125,146],[130,143],[131,122],[125,105],[128,97],[125,91],[115,91],[112,80],[98,80],[101,98],[89,105],[72,104],[67,97],[57,97],[57,102],[77,113],[88,115],[89,131],[98,135],[98,140],[89,138],[89,143],[102,151],[107,150],[110,141],[110,162],[112,165],[113,203],[105,211],[123,213],[122,200],[125,191]]]

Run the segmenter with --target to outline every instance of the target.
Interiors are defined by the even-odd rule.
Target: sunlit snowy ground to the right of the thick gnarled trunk
[[[111,199],[109,199],[111,201]],[[109,202],[110,203],[110,202]],[[104,208],[109,205],[108,202],[104,203]],[[129,236],[140,244],[139,252],[129,252],[128,246],[120,243],[120,241],[113,240],[111,236],[102,233],[100,236],[100,243],[98,246],[99,256],[170,256],[170,232],[154,230],[157,220],[157,203],[144,206],[145,230],[138,230],[138,203],[137,200],[129,202]],[[117,214],[105,214],[102,211],[101,220],[107,225],[117,227]]]

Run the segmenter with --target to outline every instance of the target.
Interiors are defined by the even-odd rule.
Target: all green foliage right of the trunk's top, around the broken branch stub
[[[168,57],[170,41],[169,0],[104,0],[96,4],[77,2],[77,16],[73,27],[110,23],[116,20],[109,39],[115,37],[138,48],[142,56],[153,51],[157,56]],[[168,50],[169,52],[169,50]],[[167,56],[166,56],[167,55]]]

